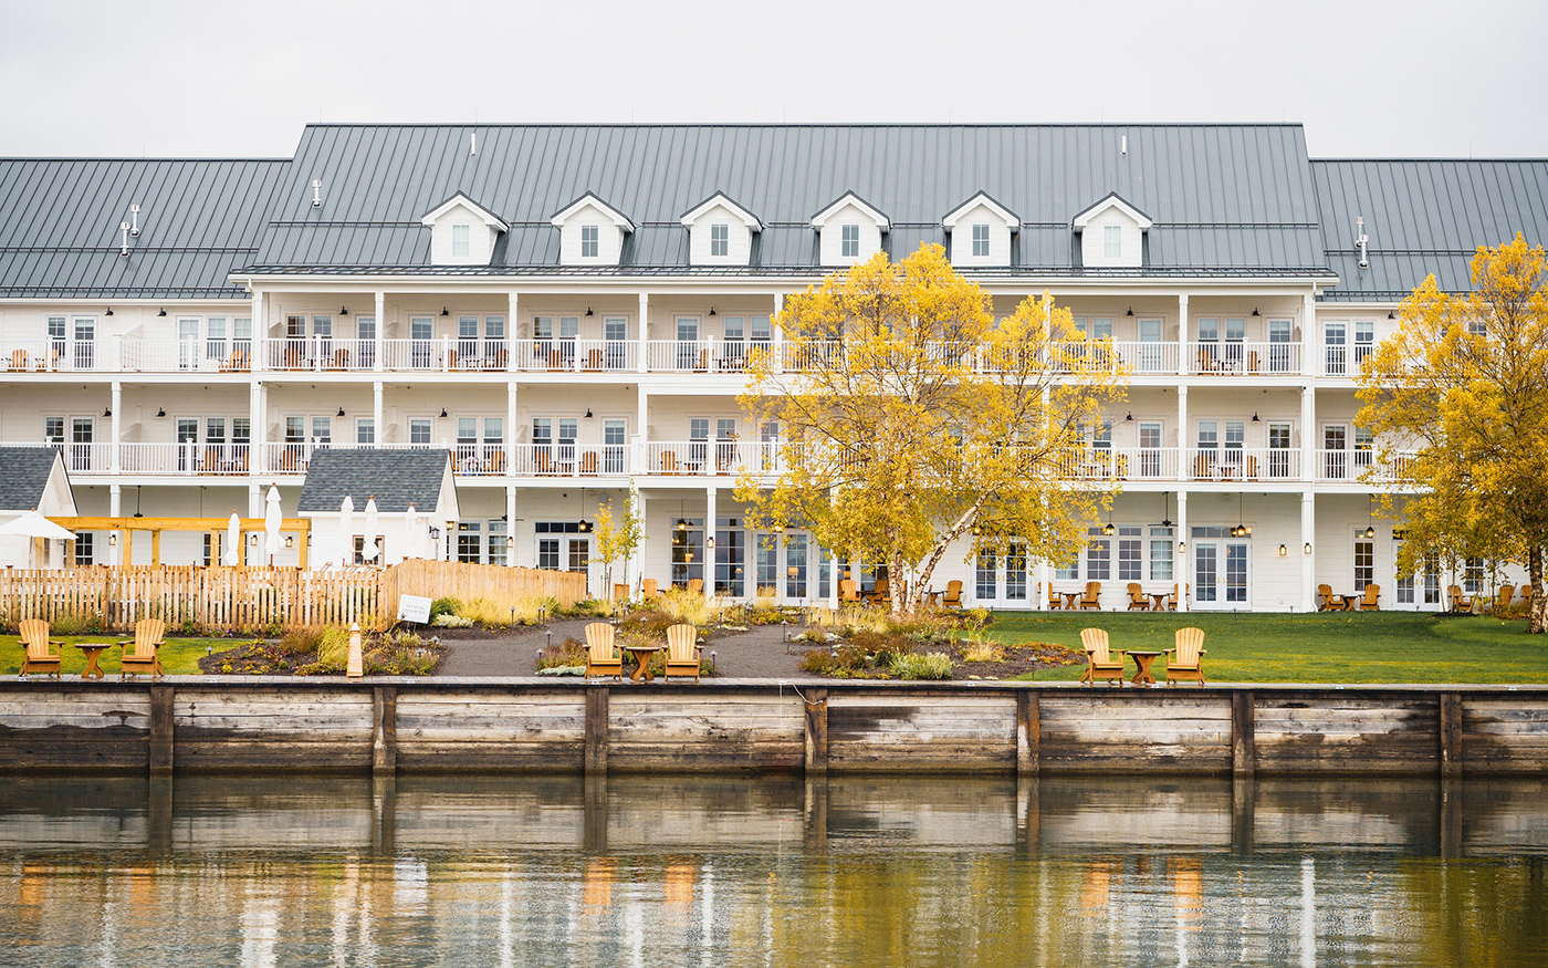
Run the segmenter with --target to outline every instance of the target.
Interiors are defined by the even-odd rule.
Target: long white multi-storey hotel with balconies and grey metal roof
[[[1048,290],[1133,367],[1111,457],[1070,466],[1121,479],[1113,533],[1068,567],[964,548],[937,587],[1307,610],[1375,581],[1432,610],[1452,576],[1395,576],[1353,372],[1426,274],[1464,290],[1475,246],[1545,228],[1548,163],[1316,161],[1294,124],[308,125],[293,158],[0,160],[0,443],[62,448],[80,514],[206,517],[271,482],[293,514],[317,449],[446,446],[447,554],[599,592],[579,522],[633,482],[636,584],[825,599],[822,550],[734,499],[779,432],[738,410],[741,361],[783,353],[785,294],[935,242],[998,313]]]

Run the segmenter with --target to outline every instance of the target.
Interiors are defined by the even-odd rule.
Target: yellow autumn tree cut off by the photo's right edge
[[[1382,446],[1375,474],[1415,485],[1401,505],[1398,568],[1426,554],[1523,562],[1543,632],[1548,545],[1548,266],[1520,235],[1480,248],[1472,291],[1430,276],[1398,310],[1396,335],[1359,373],[1358,420]],[[1409,454],[1407,451],[1412,451]]]

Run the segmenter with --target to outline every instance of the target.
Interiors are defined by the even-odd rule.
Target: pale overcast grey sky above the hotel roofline
[[[308,121],[1300,121],[1548,156],[1548,3],[0,0],[0,155],[288,156]]]

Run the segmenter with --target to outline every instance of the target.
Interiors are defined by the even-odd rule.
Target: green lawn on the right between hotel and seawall
[[[1081,629],[1107,629],[1115,649],[1170,649],[1175,629],[1204,630],[1204,677],[1226,683],[1548,683],[1548,637],[1525,621],[1433,618],[1410,612],[1211,615],[1000,612],[1005,643],[1081,647]],[[1163,669],[1161,658],[1153,671]],[[1128,664],[1133,669],[1133,663]],[[1084,663],[1037,680],[1076,680]]]

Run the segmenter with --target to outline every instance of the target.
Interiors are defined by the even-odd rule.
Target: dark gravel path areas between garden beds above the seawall
[[[533,675],[533,655],[550,641],[579,638],[596,620],[567,620],[519,629],[498,638],[449,640],[449,652],[441,660],[440,675]],[[800,671],[802,644],[786,643],[785,633],[796,635],[800,626],[755,626],[748,632],[718,632],[704,644],[715,654],[715,675],[726,678],[782,678],[816,681],[819,677]]]

